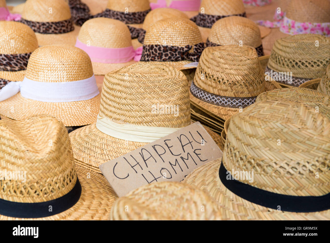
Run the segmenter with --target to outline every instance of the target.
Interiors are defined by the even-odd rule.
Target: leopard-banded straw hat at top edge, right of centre
[[[198,15],[191,20],[196,22],[206,42],[212,25],[220,18],[232,15],[246,17],[242,0],[202,0]]]

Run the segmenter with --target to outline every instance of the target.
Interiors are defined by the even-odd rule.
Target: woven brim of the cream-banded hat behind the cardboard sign
[[[206,130],[219,148],[222,148],[221,137],[208,128]],[[72,131],[69,137],[76,163],[98,173],[101,173],[100,164],[148,144],[109,136],[97,129],[96,123]]]

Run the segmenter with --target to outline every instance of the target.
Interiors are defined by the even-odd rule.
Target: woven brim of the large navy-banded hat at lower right
[[[182,181],[208,191],[218,202],[222,220],[329,220],[330,210],[312,213],[283,212],[251,203],[228,190],[219,178],[221,159],[195,169]]]

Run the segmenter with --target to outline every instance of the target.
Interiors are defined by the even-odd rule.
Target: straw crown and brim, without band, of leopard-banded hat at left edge
[[[38,48],[33,30],[27,25],[15,21],[0,21],[0,54],[24,54]],[[22,81],[25,70],[0,71],[0,79]]]

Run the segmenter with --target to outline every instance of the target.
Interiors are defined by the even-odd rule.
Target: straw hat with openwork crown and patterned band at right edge
[[[321,35],[301,34],[276,40],[265,71],[282,86],[298,87],[321,78],[329,63],[330,40]],[[279,72],[292,72],[292,82],[285,77],[282,80]]]

